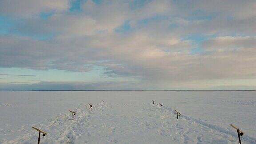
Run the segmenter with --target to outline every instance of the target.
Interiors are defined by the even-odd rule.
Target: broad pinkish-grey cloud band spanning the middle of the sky
[[[256,76],[254,59],[256,51],[252,48],[253,44],[248,44],[253,42],[252,37],[232,38],[235,40],[233,45],[243,46],[242,49],[198,55],[191,55],[186,48],[184,49],[182,43],[188,43],[186,41],[176,40],[174,44],[180,44],[181,48],[172,47],[173,43],[168,45],[168,42],[163,42],[161,39],[158,42],[158,39],[151,39],[150,36],[141,33],[125,36],[125,39],[119,35],[103,35],[99,36],[99,39],[100,43],[97,43],[93,37],[76,40],[59,39],[51,43],[10,37],[2,40],[0,50],[3,60],[0,64],[2,67],[12,65],[78,72],[88,71],[93,67],[92,65],[98,65],[106,68],[105,75],[130,76],[157,83]],[[222,48],[224,46],[220,44],[226,44],[219,42],[223,40],[221,37],[214,40],[205,42],[203,46],[207,49],[219,44],[218,47]],[[232,40],[228,38],[226,41],[228,45],[232,45]],[[184,51],[180,51],[181,49]],[[13,57],[10,59],[11,56]],[[9,61],[4,60],[7,57]]]

